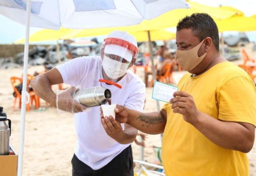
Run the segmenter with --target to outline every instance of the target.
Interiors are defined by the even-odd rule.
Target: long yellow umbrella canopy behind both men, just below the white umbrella
[[[237,14],[238,10],[234,8],[224,8],[224,7],[210,7],[199,4],[197,2],[188,2],[190,4],[189,9],[176,9],[152,20],[144,20],[142,23],[134,26],[122,26],[122,27],[112,27],[112,28],[96,28],[96,29],[84,29],[84,30],[71,30],[62,28],[58,31],[54,30],[42,30],[41,32],[36,32],[30,36],[30,42],[40,42],[46,40],[58,40],[58,39],[68,39],[76,37],[87,37],[87,36],[101,36],[112,32],[113,30],[123,30],[127,32],[135,31],[152,31],[152,30],[162,30],[164,28],[176,27],[178,21],[186,15],[191,15],[193,13],[208,13],[214,18],[214,20],[220,20],[229,18]],[[24,43],[24,39],[18,40],[14,43]]]

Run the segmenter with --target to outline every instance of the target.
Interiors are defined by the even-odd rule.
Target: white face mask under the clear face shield
[[[126,74],[130,63],[122,63],[104,56],[102,67],[109,78],[117,79]]]

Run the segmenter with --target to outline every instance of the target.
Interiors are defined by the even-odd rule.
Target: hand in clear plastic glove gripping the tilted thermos
[[[56,96],[56,108],[58,112],[66,111],[70,113],[83,112],[88,110],[87,106],[80,104],[72,98],[78,89],[75,87],[70,87],[66,90],[58,90]]]

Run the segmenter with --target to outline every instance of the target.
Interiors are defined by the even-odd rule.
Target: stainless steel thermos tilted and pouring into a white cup
[[[88,107],[100,106],[110,100],[111,92],[109,89],[96,86],[76,91],[73,98]]]

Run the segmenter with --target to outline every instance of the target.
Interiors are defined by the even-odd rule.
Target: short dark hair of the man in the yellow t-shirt
[[[176,27],[177,31],[182,29],[192,29],[194,35],[200,42],[206,37],[212,38],[212,42],[217,51],[220,50],[220,38],[218,27],[212,17],[206,13],[194,13],[180,20]]]

